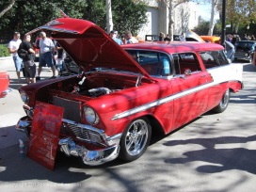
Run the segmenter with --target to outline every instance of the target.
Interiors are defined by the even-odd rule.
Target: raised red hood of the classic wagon
[[[59,18],[30,32],[51,31],[51,35],[85,72],[93,68],[116,68],[151,78],[118,43],[91,22],[69,17]]]

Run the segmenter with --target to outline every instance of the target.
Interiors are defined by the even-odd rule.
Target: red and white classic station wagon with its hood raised
[[[82,73],[19,88],[26,116],[16,129],[31,137],[35,130],[59,128],[57,150],[86,165],[117,157],[134,161],[146,151],[152,130],[168,134],[209,110],[221,113],[231,92],[243,87],[242,65],[229,63],[216,43],[120,46],[96,24],[68,17],[29,33],[38,30],[50,31]],[[43,115],[48,106],[63,115],[50,109]]]

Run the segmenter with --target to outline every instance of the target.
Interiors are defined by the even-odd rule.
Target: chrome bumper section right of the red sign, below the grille
[[[84,164],[88,166],[99,166],[116,159],[120,152],[120,145],[115,145],[104,150],[89,151],[85,147],[76,145],[72,137],[59,140],[61,152],[68,156],[81,157]]]

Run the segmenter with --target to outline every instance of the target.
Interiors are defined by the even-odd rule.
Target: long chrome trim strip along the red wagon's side
[[[237,80],[233,80],[233,81],[237,81]],[[226,81],[226,82],[233,82],[233,81],[231,80],[231,81]],[[155,107],[155,106],[158,106],[160,104],[166,104],[168,102],[177,100],[179,98],[184,97],[185,95],[189,95],[189,94],[198,92],[198,91],[200,91],[202,89],[211,88],[211,87],[214,87],[216,85],[220,85],[220,84],[223,84],[223,83],[226,83],[226,82],[221,82],[221,83],[210,82],[210,83],[198,86],[196,88],[189,88],[187,90],[175,93],[173,95],[169,95],[168,97],[164,97],[164,98],[161,98],[159,100],[155,100],[155,101],[153,101],[153,102],[151,102],[149,104],[142,104],[140,106],[136,106],[133,109],[130,109],[130,110],[127,110],[127,111],[124,111],[124,112],[122,112],[120,114],[115,115],[111,120],[120,120],[121,118],[126,118],[128,116],[131,116],[131,115],[134,115],[136,113],[148,110],[148,109],[150,109],[152,107]]]

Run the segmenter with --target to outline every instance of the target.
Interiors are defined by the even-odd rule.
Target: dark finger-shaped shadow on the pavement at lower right
[[[184,140],[171,140],[165,142],[165,146],[198,144],[203,150],[184,152],[181,158],[169,158],[167,164],[185,164],[201,161],[207,164],[196,168],[202,173],[216,173],[224,170],[240,169],[256,174],[256,150],[245,148],[216,149],[218,144],[240,144],[249,141],[256,141],[256,136],[220,136],[216,138],[193,138]]]

